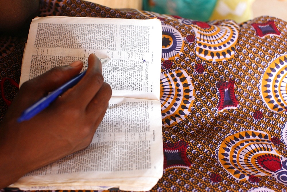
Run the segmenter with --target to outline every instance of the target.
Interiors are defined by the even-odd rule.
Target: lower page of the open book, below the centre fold
[[[160,110],[160,101],[111,98],[88,148],[32,171],[12,186],[77,185],[81,181],[103,186],[104,179],[136,177],[154,178],[156,183],[163,170]]]

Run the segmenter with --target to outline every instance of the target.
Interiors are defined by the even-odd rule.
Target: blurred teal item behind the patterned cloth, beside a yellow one
[[[186,19],[208,21],[217,0],[143,0],[143,9]]]

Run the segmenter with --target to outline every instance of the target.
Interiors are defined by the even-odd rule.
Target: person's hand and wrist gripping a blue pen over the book
[[[21,86],[0,126],[0,189],[90,144],[112,93],[94,54],[89,56],[87,72],[77,85],[32,119],[17,122],[26,108],[70,80],[82,67],[80,61],[55,67]]]

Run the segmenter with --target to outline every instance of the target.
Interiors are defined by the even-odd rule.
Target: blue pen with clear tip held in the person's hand
[[[103,59],[101,61],[102,66],[104,66],[106,63],[108,63],[109,60],[110,60],[109,57]],[[75,77],[73,77],[71,80],[66,82],[64,85],[62,85],[61,87],[59,87],[55,91],[49,93],[49,95],[47,95],[46,97],[42,97],[36,103],[34,103],[30,107],[28,107],[22,113],[22,115],[17,119],[17,122],[20,123],[22,121],[29,120],[32,117],[34,117],[35,115],[37,115],[38,113],[40,113],[42,110],[44,110],[46,107],[48,107],[50,105],[50,103],[52,103],[55,99],[57,99],[57,97],[59,97],[59,95],[61,95],[62,93],[64,93],[65,91],[67,91],[68,89],[73,87],[74,85],[76,85],[77,82],[79,82],[79,80],[81,80],[85,74],[86,74],[86,70],[84,72],[76,75]]]

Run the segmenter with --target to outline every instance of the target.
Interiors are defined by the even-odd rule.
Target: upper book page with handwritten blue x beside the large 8
[[[55,66],[88,56],[110,57],[103,76],[112,97],[159,100],[162,29],[160,21],[49,16],[30,26],[20,85]]]

